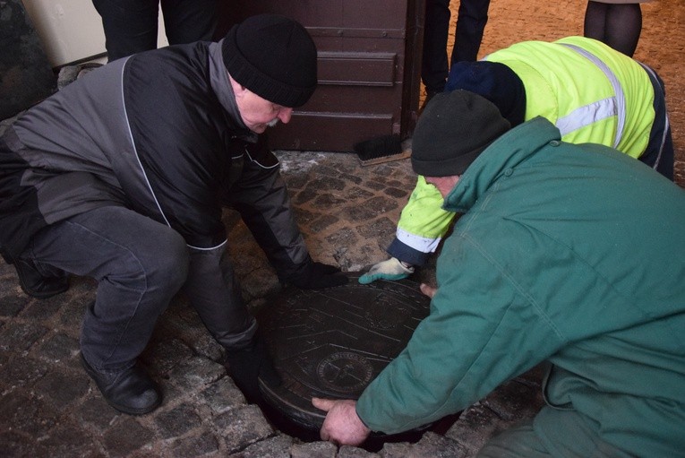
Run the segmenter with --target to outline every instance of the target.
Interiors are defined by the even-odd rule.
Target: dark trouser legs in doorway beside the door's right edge
[[[450,0],[426,0],[424,24],[424,55],[421,79],[426,91],[441,92],[455,62],[473,62],[481,47],[485,24],[488,22],[490,0],[460,0],[450,62],[447,58],[447,37],[450,29]]]

